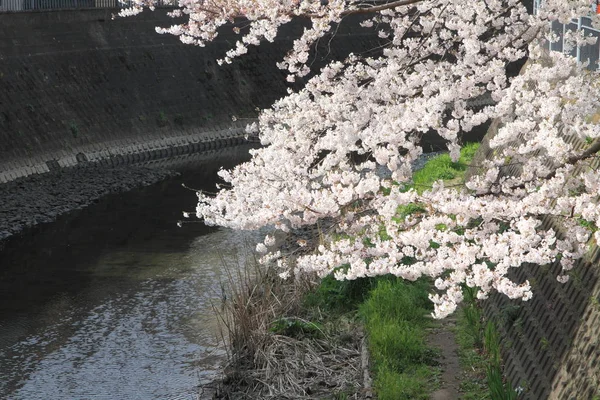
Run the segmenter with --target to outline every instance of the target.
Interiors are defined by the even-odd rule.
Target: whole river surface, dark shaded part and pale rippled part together
[[[224,359],[212,305],[223,260],[257,237],[178,228],[237,149],[109,196],[0,252],[0,399],[197,399]],[[212,158],[212,159],[211,159]],[[227,161],[225,161],[227,160]]]

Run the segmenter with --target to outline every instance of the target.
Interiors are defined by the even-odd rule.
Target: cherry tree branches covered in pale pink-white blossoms
[[[134,0],[130,15],[152,0]],[[272,41],[296,16],[312,26],[282,60],[289,79],[305,76],[311,45],[343,23],[367,17],[384,41],[382,55],[350,55],[332,62],[263,110],[248,127],[264,147],[220,176],[217,194],[198,193],[197,216],[234,229],[271,226],[288,232],[319,226],[316,238],[297,241],[293,258],[272,236],[257,250],[283,276],[316,272],[338,279],[393,274],[435,282],[434,316],[452,313],[464,285],[485,298],[532,296],[529,282],[509,271],[525,263],[560,260],[568,270],[600,239],[600,81],[568,55],[549,52],[552,21],[590,14],[588,0],[546,0],[536,15],[519,0],[179,0],[170,14],[185,22],[159,32],[203,46],[231,26],[240,40],[222,62],[250,45]],[[240,19],[246,24],[238,30]],[[594,24],[597,17],[592,17]],[[594,43],[568,32],[569,46]],[[523,57],[516,77],[508,64]],[[471,106],[490,95],[495,104]],[[423,153],[424,133],[436,131],[456,160],[461,137],[500,121],[464,185],[410,187],[411,166]],[[584,143],[574,146],[573,141]],[[359,161],[357,161],[359,160]],[[382,171],[384,171],[382,173]],[[418,205],[419,213],[401,210]],[[563,233],[548,224],[560,222]]]

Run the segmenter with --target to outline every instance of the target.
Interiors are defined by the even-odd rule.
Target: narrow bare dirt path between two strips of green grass
[[[428,338],[430,346],[440,349],[440,366],[442,367],[441,388],[431,394],[432,400],[455,400],[459,398],[461,368],[458,360],[458,345],[451,328],[456,320],[446,319],[431,332]]]

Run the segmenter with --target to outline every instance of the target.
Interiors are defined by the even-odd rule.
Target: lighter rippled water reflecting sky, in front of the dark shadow
[[[195,399],[224,359],[211,306],[222,258],[239,266],[257,238],[216,230],[183,252],[112,249],[76,295],[3,322],[0,397]]]

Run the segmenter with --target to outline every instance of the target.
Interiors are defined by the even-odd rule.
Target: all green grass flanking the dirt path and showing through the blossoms
[[[432,158],[415,173],[410,187],[422,192],[440,179],[447,185],[461,183],[478,147],[478,143],[465,145],[457,162],[452,162],[447,154]],[[397,218],[426,212],[421,204],[408,204],[398,208]],[[386,235],[385,231],[380,232],[382,238]],[[431,283],[426,280],[408,282],[387,276],[337,281],[326,277],[306,296],[305,306],[336,315],[334,318],[343,314],[358,315],[364,321],[374,389],[379,400],[425,400],[439,386],[440,376],[436,366],[438,355],[425,342],[428,329],[434,324],[429,317],[432,310],[428,299],[430,292]],[[475,304],[475,292],[465,295]],[[486,338],[497,340],[497,334],[490,329],[483,328],[481,311],[475,305],[459,317],[456,337],[465,370],[461,385],[464,399],[492,399],[486,381],[491,364],[482,350],[487,344],[484,343]],[[492,350],[494,355],[498,354],[497,349]]]

